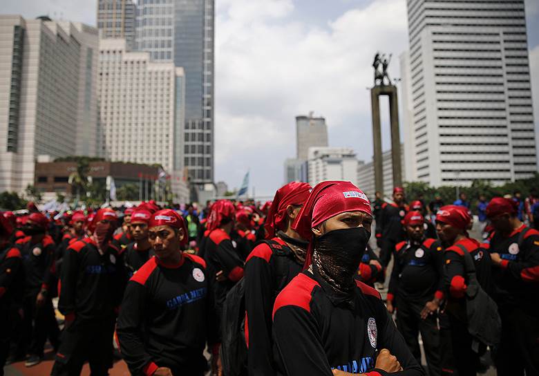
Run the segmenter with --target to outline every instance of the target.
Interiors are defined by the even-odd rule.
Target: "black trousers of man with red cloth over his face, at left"
[[[108,375],[113,365],[114,322],[114,317],[75,318],[62,332],[51,375],[78,376],[85,361],[90,364],[92,376]]]

